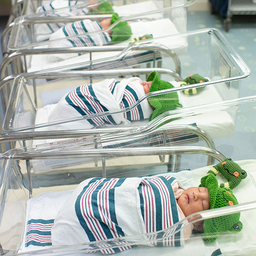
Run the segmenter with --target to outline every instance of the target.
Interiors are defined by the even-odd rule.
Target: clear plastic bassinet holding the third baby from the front
[[[187,30],[186,7],[192,4],[191,2],[193,3],[194,1],[170,0],[164,2],[162,0],[149,0],[120,5],[117,1],[117,6],[114,6],[114,11],[117,12],[120,17],[123,17],[123,20],[127,20],[130,23],[133,29],[133,37],[148,34],[146,26],[154,26],[152,22],[145,23],[150,20],[160,20],[159,22],[162,22],[162,24],[164,24],[165,21],[166,26],[172,26],[172,34],[174,34],[178,31],[185,32]],[[115,5],[115,3],[113,4]],[[68,6],[66,10],[54,11],[52,13],[46,12],[46,14],[43,12],[36,15],[16,18],[3,33],[3,47],[6,45],[6,37],[10,29],[12,30],[10,33],[12,36],[9,40],[9,50],[31,49],[38,45],[38,43],[39,48],[44,48],[45,44],[40,44],[40,42],[49,39],[49,37],[49,40],[52,40],[51,34],[68,23],[84,19],[101,21],[112,16],[112,14],[85,15],[80,11],[82,7],[79,8],[79,6],[80,5],[75,5],[74,7]],[[164,18],[168,18],[170,21],[163,20]],[[139,20],[144,21],[138,23]],[[77,29],[77,31],[79,31],[79,34],[87,32],[86,30],[82,32],[81,28]],[[142,35],[141,33],[143,32],[144,34]],[[15,33],[18,33],[18,35],[16,35],[18,37],[15,36]],[[151,30],[151,34],[155,34],[154,36],[157,37],[157,31],[154,30],[154,27]],[[97,41],[95,41],[95,43],[97,43]]]

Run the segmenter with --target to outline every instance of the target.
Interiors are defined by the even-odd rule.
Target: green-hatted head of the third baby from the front
[[[114,13],[111,18],[102,20],[100,25],[102,29],[106,29],[114,22],[119,20],[119,15]],[[132,29],[126,21],[120,21],[111,30],[107,31],[111,36],[111,42],[120,42],[129,39],[132,36]]]

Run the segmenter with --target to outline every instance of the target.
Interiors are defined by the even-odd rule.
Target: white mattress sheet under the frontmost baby
[[[201,171],[201,175],[203,176],[207,171]],[[178,179],[185,189],[192,186],[193,183],[193,173],[194,171],[180,171],[178,173],[172,173],[176,179]],[[162,174],[156,174],[155,176],[159,176]],[[58,210],[61,208],[69,195],[71,195],[72,190],[60,191],[60,192],[46,192],[37,195],[35,198],[28,200],[27,210],[26,210],[26,223],[31,219],[47,219],[54,218],[54,215],[57,214]],[[47,206],[47,207],[46,207]],[[45,247],[28,247],[25,248],[25,235],[22,243],[22,247],[20,248],[20,253],[31,251],[35,249],[48,249],[51,246]],[[193,250],[192,250],[193,248]],[[158,246],[156,248],[147,247],[147,246],[138,246],[132,248],[130,250],[118,253],[118,255],[141,255],[140,253],[147,253],[148,256],[154,255],[169,255],[170,251],[174,256],[183,256],[183,255],[191,255],[191,256],[211,256],[214,251],[219,249],[218,243],[214,242],[209,245],[205,245],[202,239],[196,239],[191,241],[186,241],[185,246],[181,247],[162,247]],[[102,256],[102,253],[94,253],[93,255]],[[219,254],[216,254],[219,255]]]

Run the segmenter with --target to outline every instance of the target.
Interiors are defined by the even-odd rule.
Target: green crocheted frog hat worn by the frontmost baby
[[[229,205],[237,205],[235,195],[231,189],[220,188],[214,174],[210,173],[201,179],[199,187],[207,187],[209,191],[210,209],[220,208]],[[224,215],[204,221],[203,237],[206,241],[213,242],[221,232],[230,231],[238,233],[242,230],[242,223],[239,220],[240,213]]]

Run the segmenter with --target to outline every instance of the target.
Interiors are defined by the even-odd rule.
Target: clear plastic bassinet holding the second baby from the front
[[[179,41],[179,39],[184,37],[186,37],[185,40],[189,42],[188,51],[185,53],[175,55],[172,51],[164,47],[166,41]],[[197,48],[196,44],[198,41],[200,41],[204,47]],[[4,131],[10,133],[47,126],[47,119],[40,120],[36,126],[34,125],[36,113],[40,108],[58,102],[59,99],[61,99],[65,93],[71,91],[73,87],[100,81],[104,78],[113,77],[113,75],[114,77],[118,75],[131,77],[133,75],[149,74],[155,70],[162,74],[161,79],[172,82],[174,86],[176,86],[175,90],[177,91],[184,88],[179,87],[179,82],[192,73],[198,73],[203,77],[208,77],[210,82],[188,86],[188,88],[205,86],[202,92],[193,96],[179,93],[180,102],[184,105],[183,108],[186,108],[210,102],[236,99],[239,97],[241,78],[247,77],[250,74],[249,68],[241,60],[240,56],[229,46],[220,32],[209,29],[193,31],[183,34],[182,36],[176,35],[159,38],[158,40],[154,39],[146,44],[138,42],[129,46],[119,57],[122,60],[129,52],[133,51],[133,48],[136,50],[144,50],[145,48],[152,49],[154,46],[161,46],[160,48],[157,47],[157,49],[163,50],[164,58],[162,59],[162,68],[123,69],[113,71],[70,71],[66,73],[59,72],[60,69],[56,69],[58,72],[55,73],[34,72],[21,74],[15,79],[15,85],[5,117]],[[171,54],[171,56],[169,54]],[[179,56],[179,58],[177,58],[177,56]],[[119,58],[113,60],[117,61]],[[91,67],[94,67],[103,62],[110,66],[110,63],[113,61],[105,59],[92,61],[90,64]],[[66,68],[79,69],[79,67],[80,65],[71,65]],[[179,74],[181,74],[181,76]],[[81,79],[81,77],[83,78]],[[146,76],[140,77],[146,79]],[[14,76],[9,77],[9,79],[7,77],[4,82],[12,78],[14,78]],[[42,81],[42,78],[48,79],[48,82],[46,82],[46,80]],[[97,78],[97,80],[95,80],[95,78]],[[49,81],[49,79],[51,79],[51,81]],[[120,78],[117,77],[117,79]],[[72,82],[72,80],[74,80],[74,82]],[[174,89],[172,90],[174,91]],[[51,95],[51,98],[49,95]],[[145,101],[148,96],[149,95],[140,100]],[[129,109],[123,109],[123,111],[127,110]],[[41,116],[46,116],[46,114]],[[24,122],[22,122],[20,118],[23,119]]]

